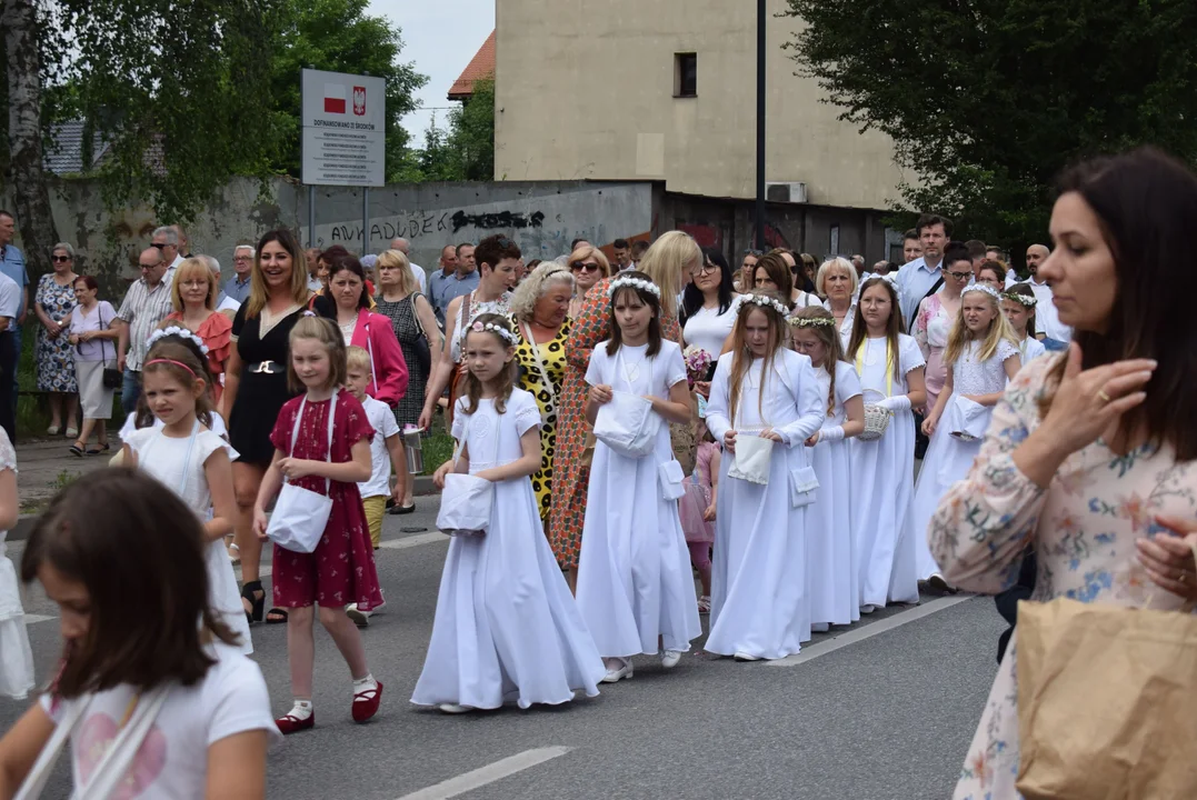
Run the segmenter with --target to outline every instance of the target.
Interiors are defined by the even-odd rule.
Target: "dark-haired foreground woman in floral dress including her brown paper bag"
[[[1191,666],[1163,673],[1169,664],[1192,664],[1191,642],[1177,642],[1161,658],[1150,649],[1157,636],[1132,643],[1129,630],[1162,617],[1191,635],[1190,617],[1117,607],[1178,610],[1181,598],[1152,580],[1175,593],[1191,592],[1197,581],[1191,554],[1149,557],[1149,570],[1136,558],[1159,556],[1153,541],[1172,535],[1171,518],[1197,517],[1195,222],[1197,177],[1150,148],[1081,164],[1061,181],[1051,216],[1056,250],[1038,276],[1051,283],[1059,319],[1076,337],[1067,353],[1031,361],[1010,383],[968,476],[940,501],[926,531],[944,578],[986,594],[1014,584],[1032,545],[1039,572],[1033,597],[1045,604],[1032,604],[1031,616],[1023,611],[956,798],[1113,796],[1110,787],[1119,796],[1195,796],[1189,738],[1154,727],[1172,719],[1192,729],[1191,715],[1168,713],[1192,696]],[[1070,609],[1107,615],[1102,630],[1087,629],[1096,654],[1076,637],[1031,637],[1044,629],[1023,629],[1049,610]],[[1114,634],[1113,621],[1130,635]],[[1046,651],[1020,652],[1033,640]],[[1068,652],[1053,652],[1053,643]],[[1035,651],[1062,666],[1052,685],[1028,679],[1035,665],[1026,659]],[[1134,674],[1119,671],[1137,653],[1143,660]],[[1074,655],[1084,659],[1087,674],[1077,676]],[[1069,689],[1101,702],[1073,698],[1056,717],[1070,720],[1067,735],[1045,738],[1041,723],[1051,717],[1029,712]],[[1116,695],[1123,702],[1108,702]],[[1124,719],[1126,709],[1140,716]],[[1035,758],[1045,747],[1057,749],[1050,762]],[[1057,787],[1051,792],[1040,782],[1045,768]],[[1165,772],[1175,777],[1177,769],[1189,775],[1187,786],[1154,783]]]

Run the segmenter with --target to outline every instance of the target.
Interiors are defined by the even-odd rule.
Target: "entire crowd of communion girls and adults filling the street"
[[[527,264],[492,236],[444,248],[426,275],[403,240],[359,258],[304,254],[272,231],[238,249],[224,292],[205,257],[180,256],[177,232],[159,228],[115,313],[134,413],[121,462],[136,471],[65,490],[25,549],[20,575],[62,607],[68,652],[55,688],[0,740],[0,789],[36,772],[83,698],[135,720],[171,680],[207,709],[175,720],[177,735],[217,723],[242,752],[213,761],[212,745],[209,771],[226,764],[257,786],[268,741],[315,726],[317,617],[350,667],[352,717],[371,719],[384,686],[359,628],[385,603],[382,515],[388,497],[393,513],[413,508],[401,433],[427,432],[442,409],[456,447],[433,480],[451,542],[411,700],[448,714],[594,696],[632,678],[642,654],[670,670],[701,636],[701,615],[705,651],[758,661],[918,603],[920,588],[1197,600],[1192,555],[1166,536],[1197,530],[1184,521],[1197,518],[1197,445],[1184,425],[1193,375],[1181,307],[1197,280],[1183,255],[1195,218],[1197,178],[1136,151],[1064,177],[1055,249],[1027,249],[1026,280],[932,214],[906,234],[904,265],[873,271],[862,257],[819,264],[788,250],[745,252],[733,269],[672,231],[648,246],[615,240],[610,257],[577,240]],[[38,298],[69,287],[75,305],[38,301],[37,314],[71,331],[75,384],[55,385],[78,386],[73,450],[90,453],[87,421],[107,448],[93,392],[116,383],[102,350],[111,325],[99,322],[114,314],[62,263]],[[225,314],[221,298],[239,306]],[[68,410],[63,398],[60,423]],[[14,475],[0,439],[0,525]],[[102,521],[107,505],[122,525]],[[159,529],[172,532],[147,544]],[[174,562],[136,578],[172,598],[139,615],[140,630],[174,642],[171,658],[130,645],[133,627],[103,625],[121,576],[97,564],[130,550],[136,564]],[[16,591],[0,574],[0,611],[6,580]],[[293,702],[273,721],[247,659],[263,619],[288,630]],[[26,654],[6,624],[6,655]],[[958,796],[1015,796],[1016,645],[1002,647]],[[121,674],[135,677],[114,678],[109,652],[127,653]],[[28,658],[2,666],[0,691],[32,688]],[[195,777],[178,770],[171,780]]]

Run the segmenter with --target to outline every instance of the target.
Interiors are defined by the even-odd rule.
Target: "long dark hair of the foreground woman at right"
[[[1147,399],[1122,415],[1117,439],[1146,429],[1153,446],[1172,445],[1178,462],[1197,459],[1197,319],[1189,309],[1197,294],[1197,177],[1169,155],[1140,147],[1068,170],[1059,193],[1074,191],[1100,220],[1118,281],[1106,332],[1078,330],[1073,338],[1081,366],[1155,359]],[[1044,415],[1067,362],[1059,359],[1050,372],[1039,402]]]

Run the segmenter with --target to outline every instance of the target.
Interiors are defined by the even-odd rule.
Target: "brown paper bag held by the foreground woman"
[[[1026,800],[1197,798],[1197,617],[1019,603]]]

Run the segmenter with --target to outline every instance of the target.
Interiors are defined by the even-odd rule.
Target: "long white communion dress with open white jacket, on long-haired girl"
[[[722,459],[706,649],[780,659],[810,637],[809,512],[807,505],[795,505],[794,476],[809,466],[804,442],[822,425],[826,395],[819,393],[810,359],[780,349],[767,374],[765,360],[753,360],[733,420],[729,380],[735,355],[723,355],[715,370],[706,407],[711,435],[722,442],[735,430],[743,440],[772,428],[783,441],[772,447],[766,483],[730,477],[736,459],[731,453]]]

